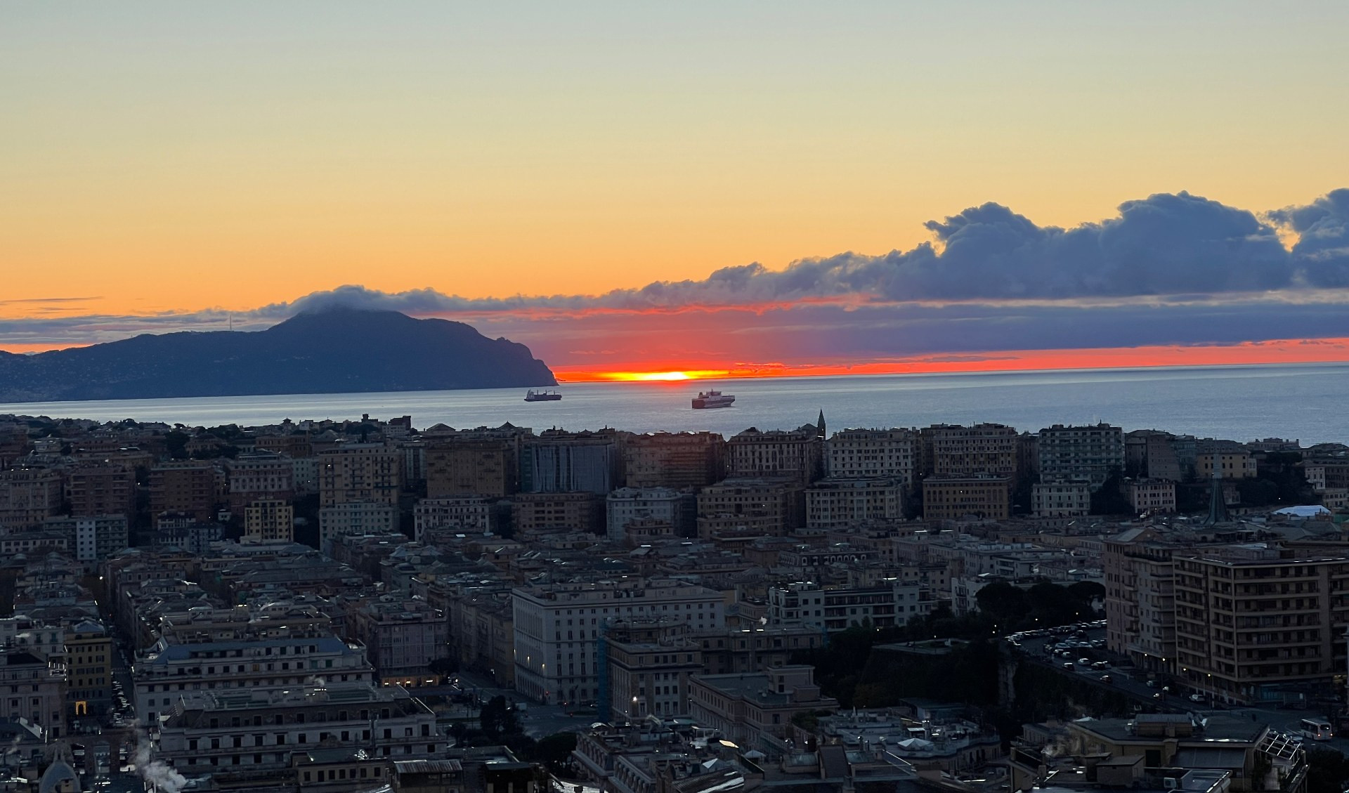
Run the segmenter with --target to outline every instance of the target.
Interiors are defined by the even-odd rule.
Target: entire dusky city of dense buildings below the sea
[[[3,415],[5,784],[1338,773],[1349,446],[826,413],[728,438]]]

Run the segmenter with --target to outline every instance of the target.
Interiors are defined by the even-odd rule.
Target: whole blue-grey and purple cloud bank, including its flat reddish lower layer
[[[935,241],[909,251],[726,267],[602,295],[469,299],[344,286],[233,316],[236,328],[329,305],[459,316],[556,363],[608,349],[615,336],[637,344],[645,333],[672,351],[681,329],[701,353],[759,360],[1349,336],[1349,189],[1261,214],[1156,194],[1068,229],[985,204],[927,228]],[[225,320],[214,310],[0,321],[0,344],[220,329]],[[707,330],[716,341],[697,339]]]

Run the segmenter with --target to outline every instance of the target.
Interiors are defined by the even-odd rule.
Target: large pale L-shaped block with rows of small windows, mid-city
[[[677,580],[553,584],[511,595],[515,691],[544,703],[600,696],[598,642],[607,623],[669,618],[695,630],[726,626],[719,592]]]

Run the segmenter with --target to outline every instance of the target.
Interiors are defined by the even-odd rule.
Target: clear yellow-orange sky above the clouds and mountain
[[[1349,183],[1345,4],[272,5],[0,9],[0,316],[598,293]]]

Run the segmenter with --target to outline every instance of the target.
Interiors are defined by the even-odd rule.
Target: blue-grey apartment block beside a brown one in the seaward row
[[[623,486],[623,437],[616,430],[545,430],[521,452],[521,491],[608,495]]]

